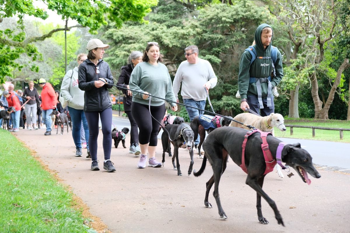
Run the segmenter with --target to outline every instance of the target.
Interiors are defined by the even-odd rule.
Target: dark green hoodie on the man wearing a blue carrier
[[[271,57],[272,38],[269,46],[264,49],[264,46],[261,43],[261,31],[263,28],[269,27],[266,23],[261,24],[255,31],[255,51],[257,52],[257,57]],[[272,28],[271,28],[272,29]],[[273,37],[273,31],[272,31]],[[277,48],[275,48],[277,49]],[[244,51],[239,62],[239,72],[238,72],[238,89],[241,99],[246,99],[247,95],[258,95],[257,86],[254,83],[249,83],[249,78],[267,78],[271,75],[272,72],[272,60],[271,59],[258,59],[256,58],[253,63],[250,65],[252,60],[252,55],[248,51]],[[282,56],[279,50],[277,50],[277,60],[275,63],[276,77],[271,79],[272,86],[275,87],[280,83],[283,77],[283,68],[282,68]],[[262,98],[267,97],[267,86],[268,83],[261,83],[261,94]]]

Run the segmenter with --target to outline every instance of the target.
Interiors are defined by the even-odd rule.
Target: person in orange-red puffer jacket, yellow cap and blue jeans
[[[41,109],[43,122],[46,125],[46,132],[44,135],[51,135],[51,123],[52,119],[50,114],[52,110],[56,108],[57,96],[54,88],[45,79],[39,79],[39,85],[43,88],[41,92]]]

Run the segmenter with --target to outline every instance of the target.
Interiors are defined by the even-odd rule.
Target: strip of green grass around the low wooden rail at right
[[[350,122],[340,120],[320,120],[320,119],[290,119],[285,118],[285,124],[288,125],[307,125],[327,128],[344,128],[350,129]],[[315,129],[315,137],[312,137],[312,129],[293,128],[293,135],[290,135],[290,128],[287,127],[286,132],[280,132],[275,129],[276,137],[300,138],[321,141],[336,141],[342,143],[350,143],[350,131],[343,131],[343,140],[340,140],[338,130],[319,130]]]

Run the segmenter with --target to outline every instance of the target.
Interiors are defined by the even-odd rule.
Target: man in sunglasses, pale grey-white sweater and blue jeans
[[[182,83],[181,96],[183,103],[195,108],[204,109],[205,101],[207,100],[207,92],[210,88],[216,86],[217,77],[209,61],[198,57],[198,47],[196,45],[188,46],[185,49],[185,57],[187,60],[180,64],[173,82],[176,101],[179,102],[177,96],[179,94],[180,84]],[[190,107],[186,107],[186,110],[190,121],[204,113],[204,111]],[[198,136],[195,141],[196,148],[199,141],[200,139]]]

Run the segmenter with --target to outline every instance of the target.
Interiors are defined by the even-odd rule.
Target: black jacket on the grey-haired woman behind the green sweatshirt
[[[127,88],[126,86],[129,85],[130,75],[131,75],[133,68],[134,68],[134,66],[132,64],[122,66],[120,76],[119,76],[119,79],[117,82],[117,86],[119,86],[117,88],[119,90],[121,90],[124,94],[124,97],[123,97],[124,111],[131,111],[132,96],[127,95],[127,90],[120,88],[120,87]]]

